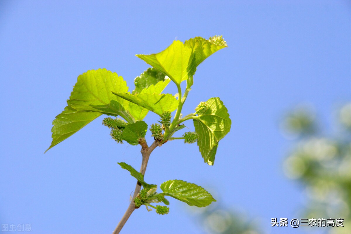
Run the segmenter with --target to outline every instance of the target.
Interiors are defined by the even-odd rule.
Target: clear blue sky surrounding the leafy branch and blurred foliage
[[[116,144],[99,117],[43,154],[51,122],[85,71],[106,68],[133,87],[148,68],[135,54],[213,35],[228,48],[198,67],[183,113],[220,97],[231,131],[214,166],[196,144],[158,147],[145,180],[202,185],[226,207],[260,218],[267,233],[303,233],[270,227],[274,217],[304,218],[304,193],[283,173],[291,143],[279,122],[308,102],[329,133],[331,112],[351,101],[350,1],[0,0],[0,223],[29,223],[35,234],[112,233],[135,186],[117,162],[139,168],[139,146]],[[203,233],[181,202],[170,202],[168,215],[135,211],[122,233]]]

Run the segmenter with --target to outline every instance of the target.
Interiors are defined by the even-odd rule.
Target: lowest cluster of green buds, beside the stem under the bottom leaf
[[[157,214],[168,214],[168,212],[170,211],[169,207],[160,205],[157,205],[155,207],[150,204],[157,202],[164,202],[165,204],[169,204],[168,201],[165,199],[165,195],[163,195],[162,193],[156,193],[156,190],[157,188],[150,188],[149,190],[143,188],[142,190],[140,190],[137,197],[134,198],[135,207],[138,208],[142,205],[145,205],[146,209],[148,211],[151,211],[152,209],[148,208],[148,206],[150,206],[156,209]]]

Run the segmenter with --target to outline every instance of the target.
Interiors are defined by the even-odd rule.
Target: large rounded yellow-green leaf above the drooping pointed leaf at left
[[[128,102],[113,95],[111,91],[127,92],[127,83],[117,73],[106,69],[90,70],[78,76],[67,103],[77,110],[120,115],[126,121],[134,122],[125,111]]]

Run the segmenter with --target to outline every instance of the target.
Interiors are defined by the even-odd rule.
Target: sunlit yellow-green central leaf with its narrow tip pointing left
[[[151,110],[158,115],[162,115],[165,111],[172,112],[178,107],[178,101],[172,94],[127,94],[115,92],[113,92],[113,94],[142,106],[147,110]]]

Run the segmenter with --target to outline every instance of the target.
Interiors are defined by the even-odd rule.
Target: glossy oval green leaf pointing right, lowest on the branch
[[[162,183],[160,188],[164,195],[183,201],[190,206],[203,207],[216,201],[203,187],[183,180],[168,180]]]

